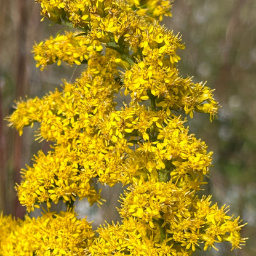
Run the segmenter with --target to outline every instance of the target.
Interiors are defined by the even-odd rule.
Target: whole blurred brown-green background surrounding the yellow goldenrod
[[[7,127],[6,116],[20,97],[42,97],[62,79],[73,82],[81,68],[49,66],[35,68],[31,49],[60,30],[60,26],[41,23],[39,5],[33,0],[0,1],[0,210],[22,217],[25,209],[18,204],[14,186],[19,172],[39,149],[49,145],[34,142],[34,130],[25,129],[20,138]],[[196,114],[188,126],[197,138],[214,151],[214,167],[204,193],[213,194],[212,202],[230,205],[230,212],[248,224],[242,230],[249,237],[246,247],[230,252],[220,244],[220,252],[196,252],[194,255],[256,255],[256,1],[255,0],[176,0],[172,18],[162,23],[182,34],[186,49],[178,68],[194,82],[207,81],[216,89],[222,108],[218,119]],[[76,206],[79,215],[94,215],[98,222],[118,220],[115,206],[121,186],[104,188],[107,202],[101,210],[88,209],[86,201]],[[90,218],[89,218],[90,219]]]

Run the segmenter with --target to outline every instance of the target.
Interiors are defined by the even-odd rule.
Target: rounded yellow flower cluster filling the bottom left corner
[[[85,255],[95,239],[90,223],[74,212],[47,212],[42,217],[14,220],[0,217],[0,255]]]

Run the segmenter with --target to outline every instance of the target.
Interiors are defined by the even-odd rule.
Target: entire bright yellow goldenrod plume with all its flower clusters
[[[73,84],[63,81],[62,90],[20,100],[8,118],[20,135],[38,122],[36,140],[52,142],[17,185],[28,212],[42,203],[48,212],[23,221],[1,216],[0,254],[182,256],[222,241],[240,248],[241,220],[197,195],[212,152],[190,134],[186,116],[198,111],[212,119],[218,103],[206,84],[177,69],[184,46],[158,21],[170,16],[170,1],[36,2],[43,18],[66,30],[34,46],[37,66],[84,71]],[[98,234],[73,207],[82,198],[102,204],[95,182],[127,185],[122,222],[100,226]],[[67,212],[50,212],[60,201]]]

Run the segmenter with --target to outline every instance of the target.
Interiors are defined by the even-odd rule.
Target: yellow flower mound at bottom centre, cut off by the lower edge
[[[98,233],[100,238],[90,247],[90,255],[92,256],[186,255],[177,254],[177,250],[173,249],[172,245],[169,246],[166,241],[158,242],[159,238],[154,236],[154,232],[136,218],[125,218],[122,224],[117,223],[115,225],[113,223],[112,225],[100,227],[98,228]]]

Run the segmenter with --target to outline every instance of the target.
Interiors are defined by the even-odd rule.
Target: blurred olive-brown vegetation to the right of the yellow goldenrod
[[[216,0],[174,2],[169,28],[180,31],[183,75],[207,80],[222,105],[218,119],[194,118],[190,129],[214,151],[210,169],[212,201],[227,202],[248,222],[243,250],[222,255],[255,255],[256,239],[256,2]],[[202,255],[205,255],[202,253]],[[212,250],[210,255],[218,255]]]

